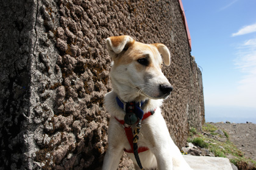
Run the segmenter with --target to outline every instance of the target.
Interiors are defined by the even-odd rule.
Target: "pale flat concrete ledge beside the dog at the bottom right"
[[[183,155],[194,170],[233,170],[228,158]]]

